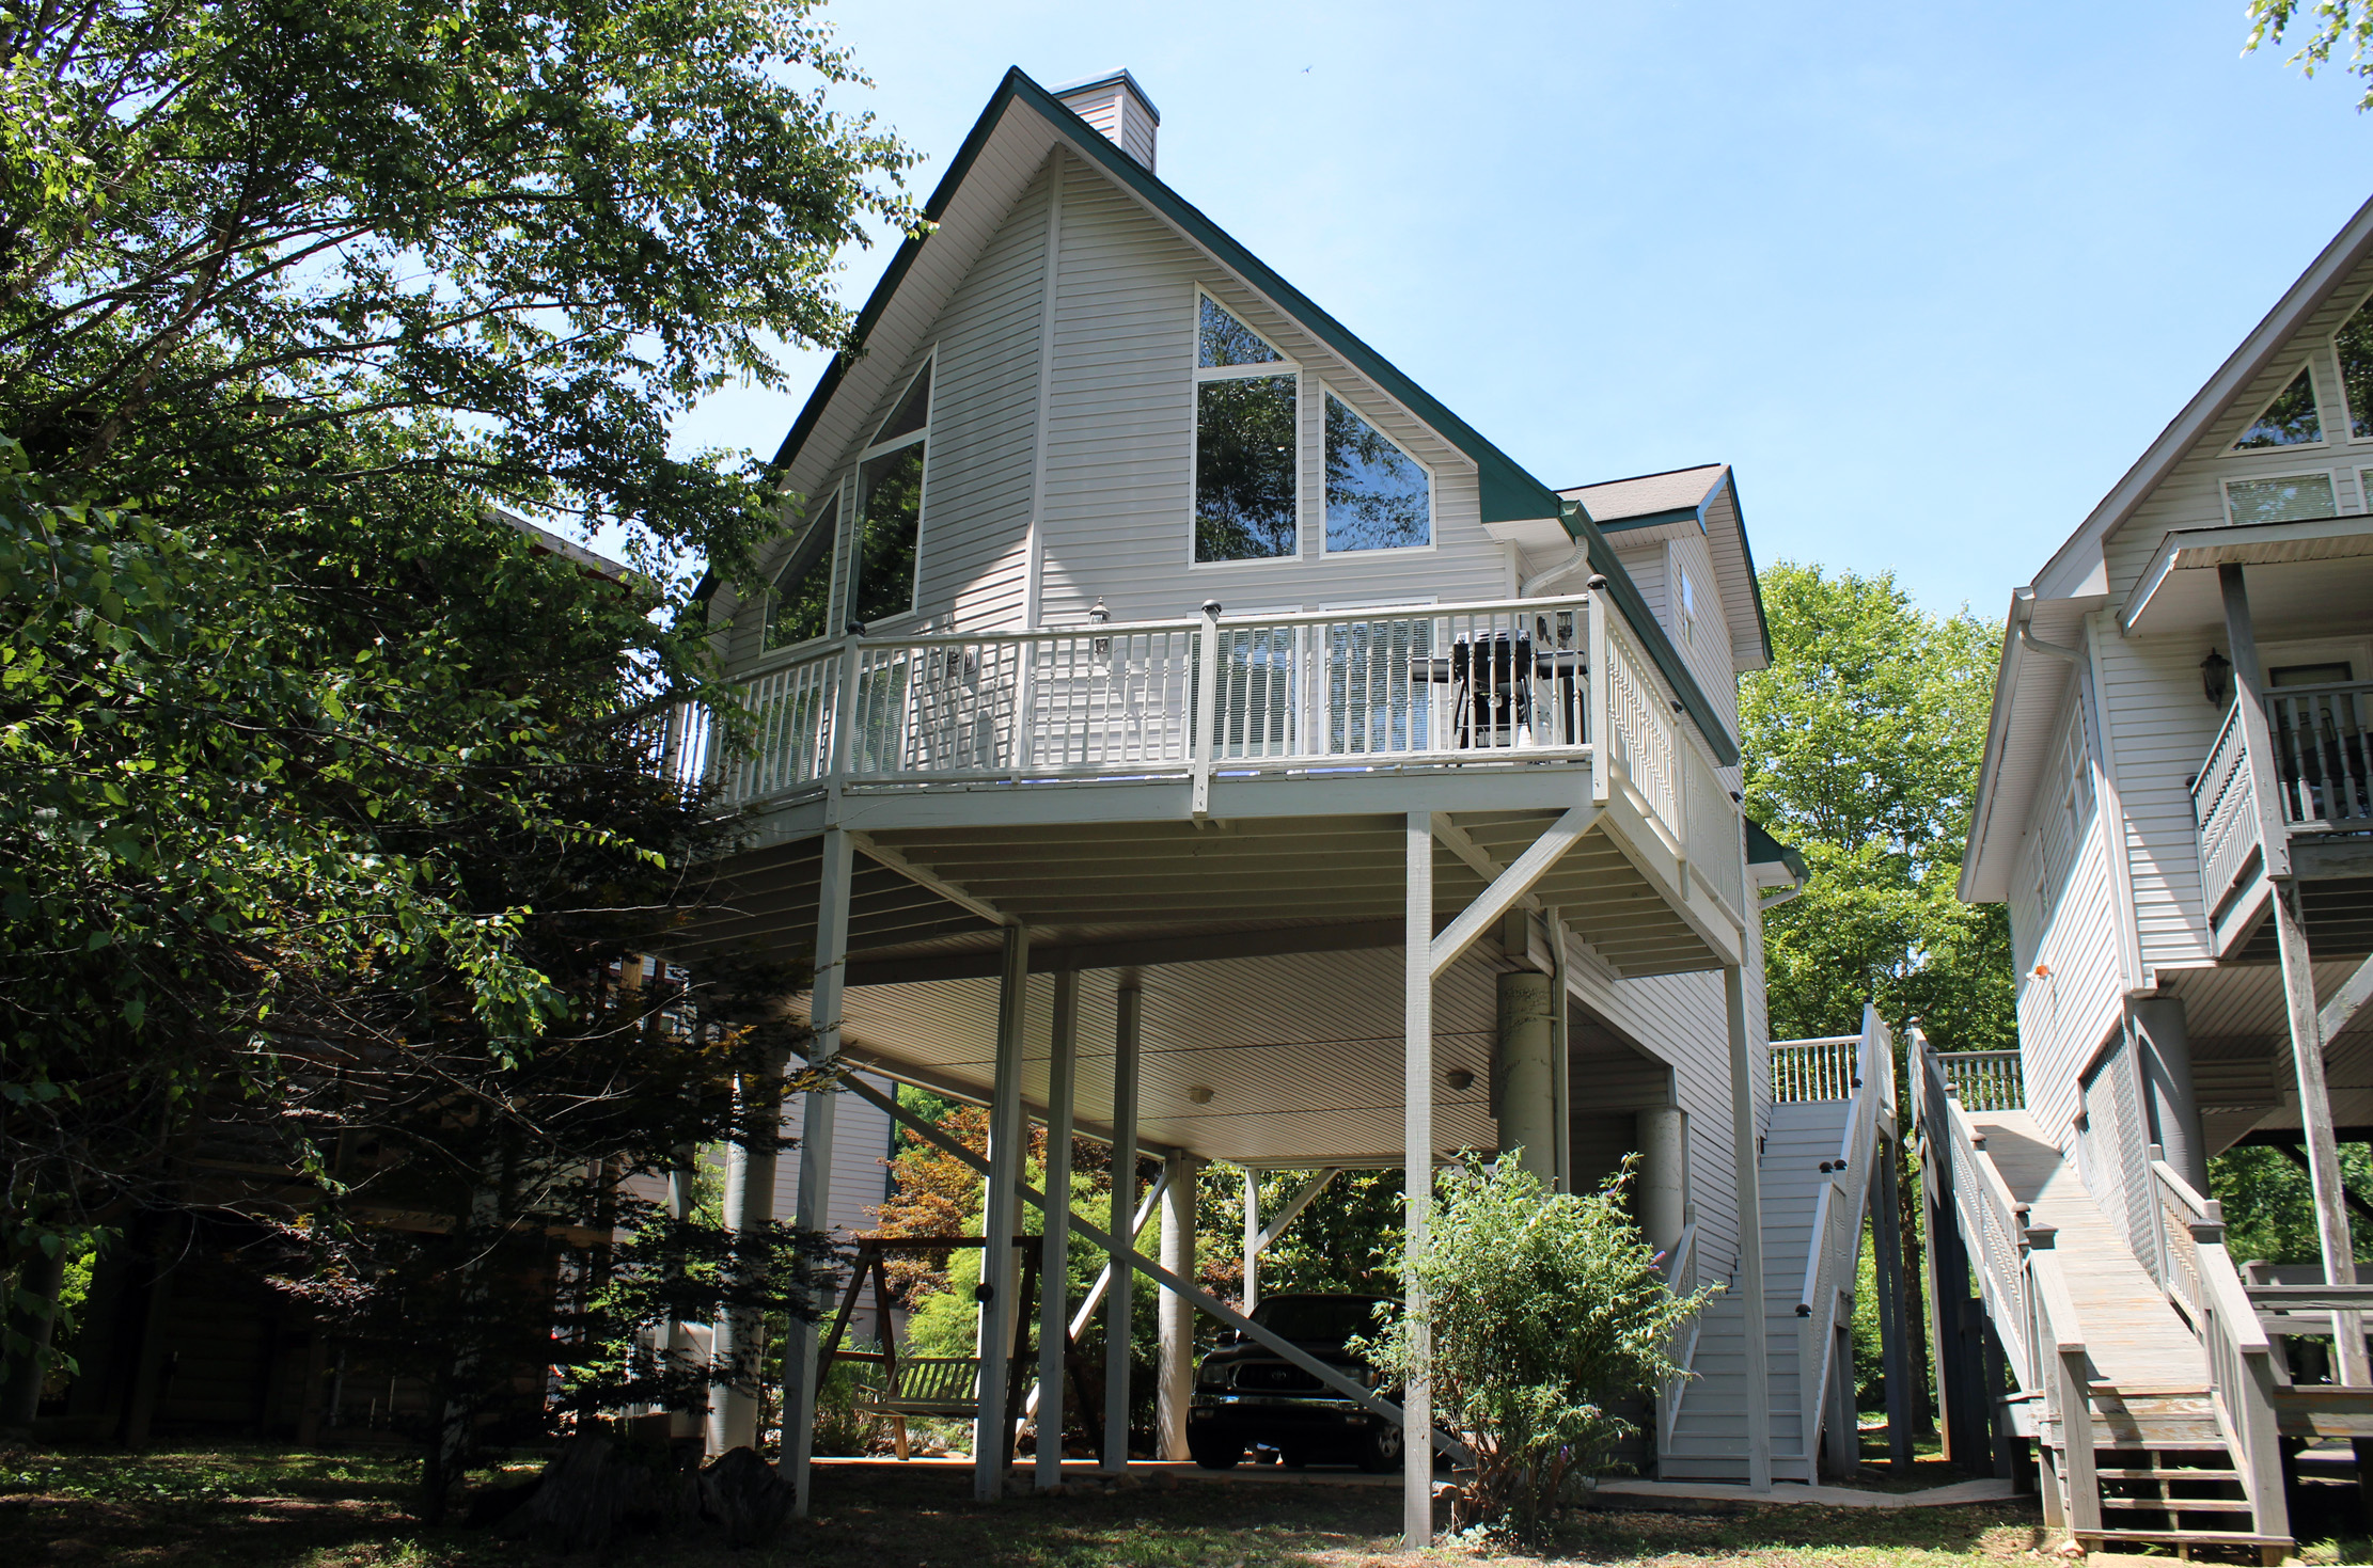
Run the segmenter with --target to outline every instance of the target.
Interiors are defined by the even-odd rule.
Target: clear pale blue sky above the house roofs
[[[1130,66],[1160,173],[1552,484],[1728,460],[1758,562],[1996,619],[2373,195],[2238,0],[823,14],[921,199],[1018,64]],[[854,306],[890,244],[852,251]],[[688,444],[771,453],[793,391]]]

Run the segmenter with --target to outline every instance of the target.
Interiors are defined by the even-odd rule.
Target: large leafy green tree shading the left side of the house
[[[691,569],[774,524],[669,420],[840,342],[833,254],[914,221],[812,9],[0,9],[12,1260],[166,1200],[190,1108],[273,1103],[339,996],[413,1039],[384,996],[434,977],[437,1030],[529,1060],[581,1015],[532,852],[681,875],[589,769],[705,690]],[[491,505],[641,576],[584,588]]]

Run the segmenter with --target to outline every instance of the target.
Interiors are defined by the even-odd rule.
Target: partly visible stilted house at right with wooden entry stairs
[[[1967,1345],[1958,1371],[1946,1357],[1948,1407],[1977,1447],[1984,1355],[2005,1355],[2019,1388],[2053,1385],[2036,1312],[2057,1286],[2036,1286],[2022,1229],[2055,1226],[2083,1238],[2065,1262],[2067,1241],[2043,1250],[2043,1274],[2067,1276],[2062,1317],[2114,1324],[2117,1343],[2091,1336],[2100,1419],[2140,1409],[2133,1390],[2195,1404],[2133,1416],[2102,1452],[2221,1447],[2235,1473],[2221,1509],[2171,1506],[2148,1485],[2157,1502],[2138,1499],[2121,1480],[2093,1497],[2093,1475],[2072,1475],[2091,1457],[2060,1445],[2053,1404],[2043,1459],[2062,1480],[2048,1499],[2083,1535],[2214,1528],[2271,1551],[2288,1540],[2271,1423],[2356,1430],[2330,1395],[2280,1385],[2257,1324],[2233,1321],[2242,1298],[2202,1295],[2242,1288],[2202,1196],[2212,1153],[2245,1139],[2295,1150],[2314,1169],[2330,1281],[2354,1281],[2333,1139],[2373,1127],[2373,1018],[2356,1011],[2373,951],[2368,297],[2373,204],[2010,605],[1960,892],[2010,904],[2019,1053],[1929,1053],[1925,1072],[1932,1146],[1960,1141],[1958,1162],[1927,1162],[1932,1219],[1951,1231],[1958,1215],[1993,1340],[1943,1279],[1946,1236],[1941,1331]],[[2330,1317],[2311,1324],[2330,1338]],[[2373,1383],[2354,1326],[2337,1369]],[[2252,1392],[2252,1378],[2269,1385]],[[2200,1400],[2214,1423],[2197,1421]],[[2316,1400],[2321,1414],[2302,1414]],[[2017,1433],[2036,1430],[2027,1409]]]

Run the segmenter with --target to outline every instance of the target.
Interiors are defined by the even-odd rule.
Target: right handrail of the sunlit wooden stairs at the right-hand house
[[[2150,1191],[2159,1229],[2159,1288],[2200,1340],[2209,1409],[2233,1454],[2259,1535],[2290,1535],[2283,1442],[2273,1409],[2278,1366],[2257,1302],[2224,1245],[2224,1205],[2202,1198],[2150,1146]]]

